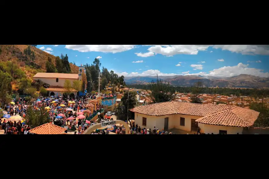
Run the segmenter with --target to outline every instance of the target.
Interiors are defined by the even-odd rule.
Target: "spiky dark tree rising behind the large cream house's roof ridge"
[[[156,83],[152,80],[151,84],[149,84],[149,89],[151,90],[150,99],[153,103],[161,103],[171,101],[174,98],[175,88],[171,86],[169,83],[163,83],[162,80],[158,79]]]

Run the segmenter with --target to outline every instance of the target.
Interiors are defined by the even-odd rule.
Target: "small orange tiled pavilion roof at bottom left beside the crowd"
[[[41,126],[38,126],[36,128],[33,128],[29,130],[30,133],[35,133],[35,134],[61,134],[65,132],[65,128],[56,126],[51,123],[43,124]]]

